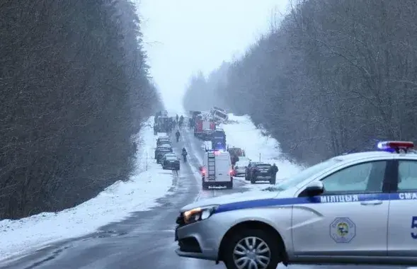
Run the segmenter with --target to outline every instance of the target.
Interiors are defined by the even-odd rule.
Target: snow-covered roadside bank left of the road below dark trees
[[[118,181],[95,198],[61,212],[0,221],[0,260],[53,241],[89,234],[105,224],[129,217],[131,212],[156,206],[155,200],[166,195],[173,177],[161,173],[161,165],[154,161],[153,121],[153,117],[149,118],[137,135],[137,165],[129,181]]]

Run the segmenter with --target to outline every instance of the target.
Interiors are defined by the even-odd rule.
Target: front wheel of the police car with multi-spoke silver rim
[[[280,262],[279,247],[265,231],[239,230],[225,247],[224,264],[227,269],[275,269]]]

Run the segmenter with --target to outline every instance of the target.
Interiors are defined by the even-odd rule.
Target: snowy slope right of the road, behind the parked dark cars
[[[262,130],[257,129],[251,118],[247,115],[235,116],[229,114],[231,123],[222,124],[219,127],[226,133],[226,140],[229,147],[240,147],[246,152],[246,156],[252,161],[264,161],[276,164],[279,168],[277,183],[280,179],[289,178],[302,170],[301,166],[293,164],[284,159],[280,144],[272,137],[265,137]],[[236,177],[239,179],[239,177]],[[244,178],[240,178],[244,180]],[[266,188],[268,185],[258,183],[252,185],[254,189]]]

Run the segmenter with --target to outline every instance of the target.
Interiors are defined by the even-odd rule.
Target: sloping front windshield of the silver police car
[[[316,164],[314,166],[310,166],[307,169],[304,169],[303,171],[297,173],[297,175],[288,178],[286,181],[280,183],[277,185],[278,190],[287,190],[289,188],[294,188],[299,183],[302,183],[306,179],[308,179],[310,176],[314,176],[314,174],[319,173],[320,171],[325,170],[326,168],[329,168],[338,162],[340,162],[341,159],[329,159],[327,161],[323,161],[319,164]]]

